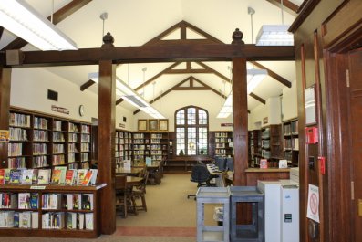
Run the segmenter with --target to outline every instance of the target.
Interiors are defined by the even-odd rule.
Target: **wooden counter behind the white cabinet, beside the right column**
[[[289,179],[289,168],[248,168],[245,174],[246,185],[256,185],[258,180]]]

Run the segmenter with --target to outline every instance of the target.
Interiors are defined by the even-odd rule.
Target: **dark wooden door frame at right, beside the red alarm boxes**
[[[330,241],[355,241],[351,162],[350,107],[347,88],[348,52],[362,41],[362,26],[347,33],[344,41],[324,50],[326,74],[326,190],[325,222]],[[338,209],[336,209],[338,208]],[[344,226],[341,226],[344,225]]]

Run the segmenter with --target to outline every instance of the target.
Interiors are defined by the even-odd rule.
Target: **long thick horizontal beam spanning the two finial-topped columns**
[[[232,58],[254,60],[295,60],[294,46],[255,47],[246,45],[178,45],[82,48],[64,51],[24,51],[24,61],[18,67],[50,67],[98,65],[99,59],[120,63],[154,63],[174,61],[230,61]],[[0,65],[5,65],[5,52],[0,53]]]

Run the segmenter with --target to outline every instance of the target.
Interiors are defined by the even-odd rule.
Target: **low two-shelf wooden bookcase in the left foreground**
[[[0,185],[0,193],[12,193],[16,194],[16,199],[18,199],[18,195],[20,193],[29,193],[36,195],[38,197],[38,205],[37,207],[33,208],[18,208],[18,201],[16,201],[16,205],[14,207],[0,208],[0,213],[6,212],[15,212],[15,213],[36,213],[37,220],[33,221],[33,225],[29,225],[29,228],[25,227],[1,227],[0,228],[0,236],[5,237],[83,237],[83,238],[90,238],[90,237],[98,237],[100,235],[99,225],[100,216],[99,216],[99,197],[98,191],[105,187],[106,184],[98,184],[94,186],[63,186],[63,185],[12,185],[12,184],[2,184]],[[60,200],[57,201],[59,203],[57,208],[47,209],[45,208],[43,202],[43,195],[50,195],[56,194],[59,195]],[[88,195],[88,197],[92,197],[92,207],[86,209],[84,207],[78,207],[78,209],[68,209],[64,205],[67,204],[67,200],[65,195]],[[90,196],[91,195],[91,196]],[[64,216],[64,226],[61,228],[45,228],[43,225],[42,217],[45,216],[47,213],[56,213],[59,216]],[[67,228],[67,216],[68,213],[77,213],[83,214],[84,217],[86,214],[91,214],[91,219],[88,220],[92,225],[86,226],[84,224],[84,228]],[[30,214],[31,215],[31,214]],[[32,216],[32,215],[31,215]],[[84,221],[86,223],[86,221]],[[37,224],[37,228],[33,228]]]

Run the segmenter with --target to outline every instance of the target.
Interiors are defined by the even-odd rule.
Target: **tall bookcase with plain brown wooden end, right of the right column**
[[[284,157],[282,125],[264,127],[261,133],[261,157],[268,160],[269,166],[277,167],[278,161]]]

